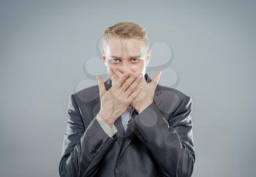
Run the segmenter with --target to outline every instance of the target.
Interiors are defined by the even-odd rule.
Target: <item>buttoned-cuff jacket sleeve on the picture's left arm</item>
[[[72,94],[69,98],[67,127],[62,144],[61,177],[94,176],[97,164],[105,157],[115,139],[110,138],[94,117],[83,125],[80,109]]]

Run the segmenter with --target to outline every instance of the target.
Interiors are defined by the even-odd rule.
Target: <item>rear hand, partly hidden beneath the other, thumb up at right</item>
[[[121,78],[124,73],[129,72],[129,70],[125,69],[124,67],[118,66],[113,67],[110,66],[110,75],[114,82]],[[156,90],[157,83],[159,81],[159,77],[162,74],[162,71],[158,71],[157,74],[154,76],[154,79],[151,82],[146,82],[144,79],[142,80],[141,87],[142,90],[140,94],[132,101],[132,107],[138,111],[138,114],[146,109],[151,103],[153,103],[154,98],[154,91]]]

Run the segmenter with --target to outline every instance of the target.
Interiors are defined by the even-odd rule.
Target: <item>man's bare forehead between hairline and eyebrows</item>
[[[119,57],[143,55],[145,52],[144,42],[140,39],[111,38],[106,44],[106,55]]]

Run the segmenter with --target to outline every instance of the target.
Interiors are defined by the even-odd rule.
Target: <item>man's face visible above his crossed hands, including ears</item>
[[[102,50],[102,60],[107,67],[108,76],[112,82],[110,66],[114,68],[123,67],[124,70],[142,74],[144,78],[150,56],[151,50],[146,49],[142,40],[135,38],[121,39],[113,37]]]

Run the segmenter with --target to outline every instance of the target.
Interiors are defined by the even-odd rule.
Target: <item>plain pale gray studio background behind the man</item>
[[[193,176],[255,176],[255,7],[1,0],[0,176],[59,176],[69,95],[97,84],[86,60],[95,64],[92,75],[105,73],[100,36],[125,20],[147,29],[153,66],[172,56],[159,82],[192,97]]]

